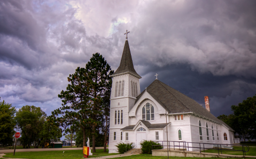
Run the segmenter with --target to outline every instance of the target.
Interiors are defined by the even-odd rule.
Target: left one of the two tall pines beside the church
[[[86,146],[87,141],[86,128],[95,122],[89,118],[92,99],[87,76],[86,69],[80,67],[69,75],[67,80],[71,83],[67,85],[66,91],[62,90],[58,95],[63,107],[52,112],[52,115],[61,115],[56,121],[65,129],[65,133],[71,133],[74,128],[83,131],[83,146]]]

